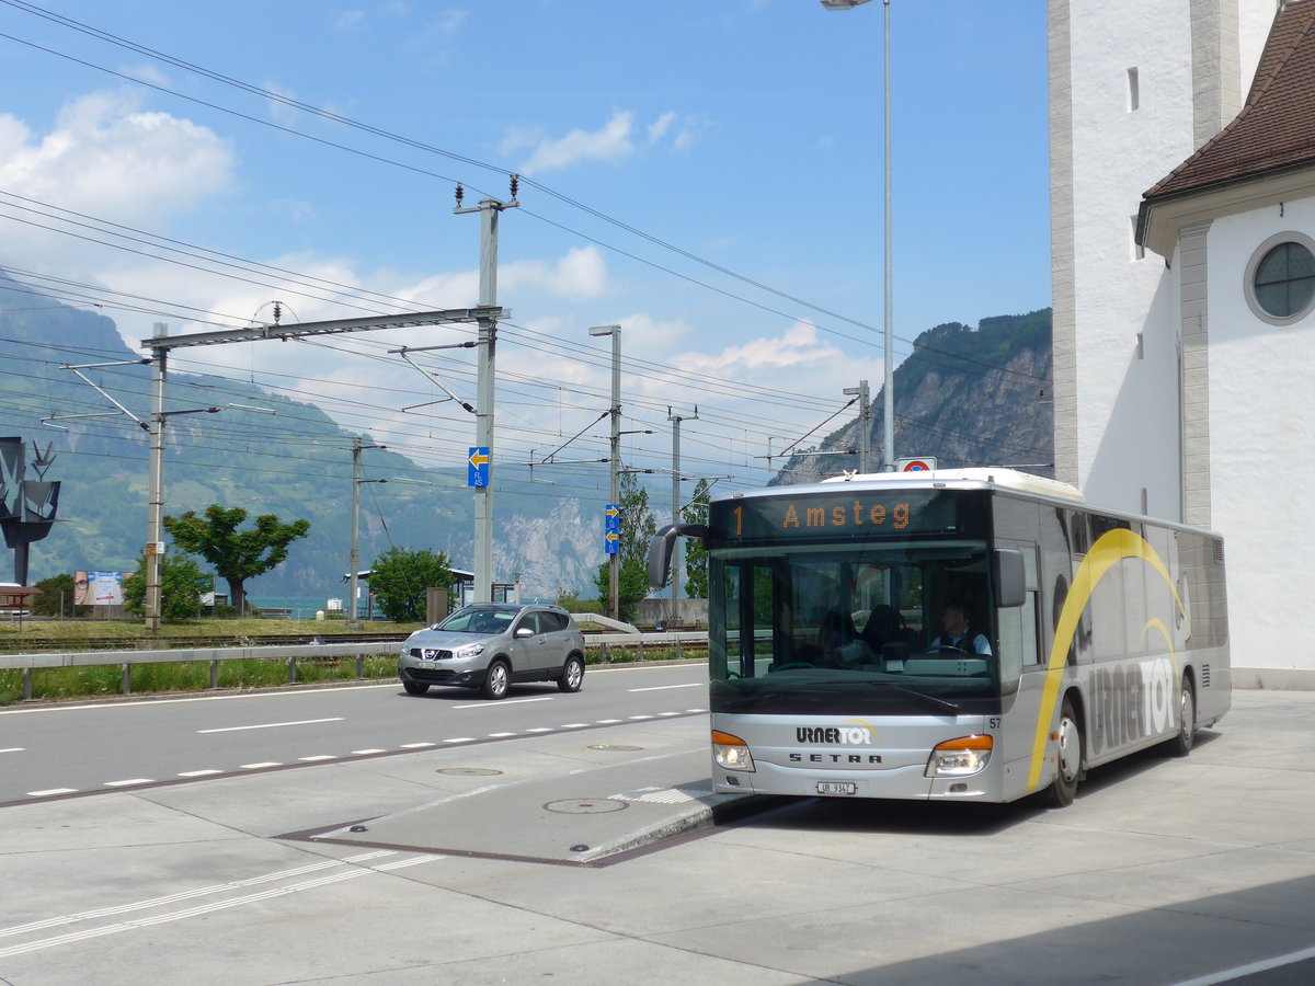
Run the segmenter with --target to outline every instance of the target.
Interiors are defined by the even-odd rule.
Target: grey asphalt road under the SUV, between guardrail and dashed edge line
[[[0,709],[0,805],[706,713],[702,664],[623,674],[590,668],[579,693],[515,685],[500,702],[393,681]]]

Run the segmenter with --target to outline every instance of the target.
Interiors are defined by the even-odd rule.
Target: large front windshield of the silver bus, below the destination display
[[[714,713],[999,710],[985,540],[715,548]]]

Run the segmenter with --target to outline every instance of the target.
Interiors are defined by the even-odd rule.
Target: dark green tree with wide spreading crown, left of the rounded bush
[[[242,585],[247,578],[264,575],[288,557],[288,544],[305,538],[309,521],[284,523],[274,514],[255,518],[255,527],[239,531],[246,521],[246,510],[239,506],[225,509],[218,504],[205,507],[205,517],[188,510],[181,517],[166,517],[164,530],[174,544],[183,551],[200,555],[229,584],[229,602],[238,613],[246,611]]]

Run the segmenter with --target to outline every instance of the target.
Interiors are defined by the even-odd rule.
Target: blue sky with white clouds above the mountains
[[[899,362],[932,326],[1051,304],[1045,4],[889,20]],[[619,325],[626,467],[669,471],[677,415],[682,477],[763,485],[853,417],[846,388],[881,387],[882,21],[818,0],[0,0],[0,268],[134,347],[275,302],[284,325],[468,308],[480,218],[455,189],[509,201],[515,174],[494,476],[606,456],[611,348],[588,329]],[[456,467],[475,354],[431,347],[471,338],[245,342],[170,369]]]

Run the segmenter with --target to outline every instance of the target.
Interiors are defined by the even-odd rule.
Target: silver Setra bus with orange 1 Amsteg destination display
[[[1073,801],[1089,768],[1185,756],[1230,706],[1222,539],[1011,469],[719,497],[709,564],[719,793]]]

